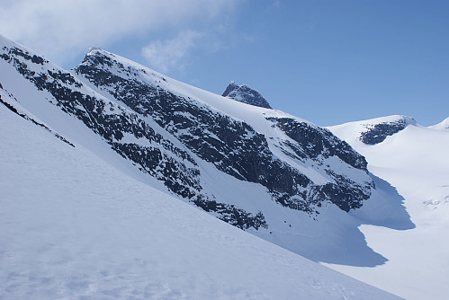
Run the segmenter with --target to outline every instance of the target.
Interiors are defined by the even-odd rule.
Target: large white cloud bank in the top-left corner
[[[194,22],[207,24],[229,12],[237,2],[4,0],[0,10],[0,33],[61,63],[65,57],[84,52],[90,46],[104,47],[123,38],[143,36],[152,31],[178,31],[189,28]],[[188,33],[190,36],[187,38],[194,40],[193,33]],[[189,40],[184,42],[188,44]]]

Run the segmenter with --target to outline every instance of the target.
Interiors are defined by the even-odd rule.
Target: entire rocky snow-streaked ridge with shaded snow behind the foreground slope
[[[360,225],[414,227],[390,184],[326,128],[177,82],[102,49],[67,71],[13,41],[0,38],[0,48],[4,110],[139,182],[131,188],[114,182],[126,191],[120,199],[131,201],[134,189],[150,187],[162,192],[151,191],[156,198],[183,200],[310,260],[360,267],[388,260],[368,247]],[[14,182],[8,184],[22,189]],[[42,187],[40,199],[53,195]],[[177,217],[185,206],[170,207]]]

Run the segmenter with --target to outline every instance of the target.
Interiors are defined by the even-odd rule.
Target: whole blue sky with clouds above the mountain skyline
[[[58,65],[101,47],[213,93],[249,84],[321,125],[449,117],[449,1],[4,0],[0,33]]]

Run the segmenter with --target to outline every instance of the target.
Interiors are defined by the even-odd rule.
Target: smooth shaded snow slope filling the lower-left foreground
[[[117,172],[3,104],[0,128],[1,299],[397,298]]]

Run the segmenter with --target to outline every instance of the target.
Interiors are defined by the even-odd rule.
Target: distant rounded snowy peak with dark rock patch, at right
[[[365,145],[377,145],[382,143],[387,137],[390,137],[409,125],[418,125],[413,118],[401,115],[393,115],[388,117],[367,119],[363,121],[350,122],[338,126],[334,126],[331,131],[340,138],[351,138],[356,134],[356,138]],[[346,131],[348,137],[346,137]]]

